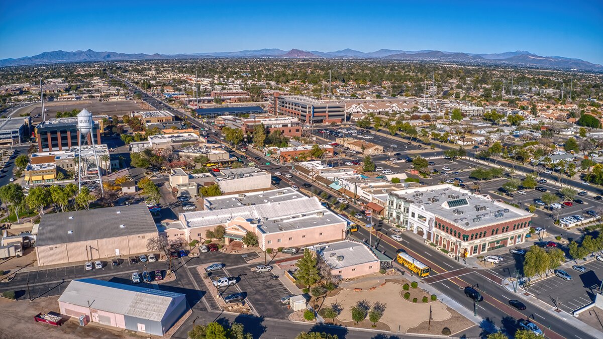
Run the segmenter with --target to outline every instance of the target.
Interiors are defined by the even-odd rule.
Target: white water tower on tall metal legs
[[[101,180],[101,167],[99,166],[98,155],[94,142],[94,121],[92,113],[87,109],[81,110],[77,115],[78,130],[78,187],[81,191],[82,186],[90,191],[100,189],[103,195],[103,180]],[[83,148],[83,153],[82,153]],[[92,151],[92,154],[90,154]]]

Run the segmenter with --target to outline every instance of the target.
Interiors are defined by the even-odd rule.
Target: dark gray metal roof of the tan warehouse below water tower
[[[144,204],[42,215],[36,246],[157,233]]]

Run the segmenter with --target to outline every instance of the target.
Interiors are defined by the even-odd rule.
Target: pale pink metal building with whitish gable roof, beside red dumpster
[[[58,308],[86,322],[160,337],[188,310],[185,294],[96,279],[69,282]]]

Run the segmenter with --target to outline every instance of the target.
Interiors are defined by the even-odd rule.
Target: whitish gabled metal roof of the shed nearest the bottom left
[[[160,322],[185,295],[96,279],[72,280],[59,302]]]

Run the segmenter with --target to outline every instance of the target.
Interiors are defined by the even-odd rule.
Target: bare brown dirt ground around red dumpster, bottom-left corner
[[[14,302],[0,298],[0,339],[21,338],[148,338],[141,337],[131,331],[114,331],[113,329],[99,328],[95,325],[80,327],[76,320],[69,320],[63,326],[54,327],[43,323],[34,322],[34,315],[39,312],[58,312],[58,296],[39,298],[33,302],[28,300]]]

